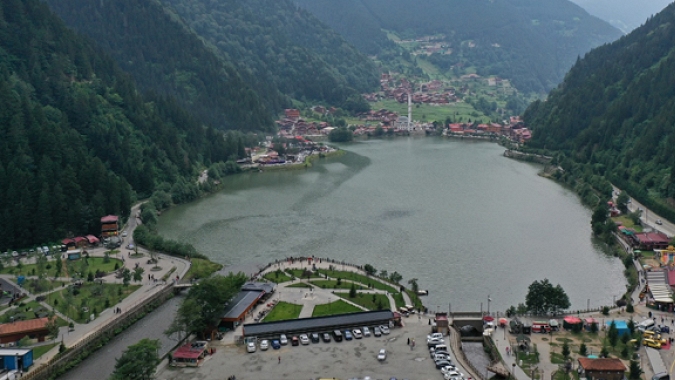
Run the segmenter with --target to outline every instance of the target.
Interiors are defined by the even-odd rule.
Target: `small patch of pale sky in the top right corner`
[[[624,33],[642,25],[673,0],[571,0],[588,13],[603,19]]]

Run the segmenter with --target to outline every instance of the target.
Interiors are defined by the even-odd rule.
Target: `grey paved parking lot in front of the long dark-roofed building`
[[[392,377],[410,380],[442,379],[429,356],[426,336],[430,329],[428,319],[415,316],[403,319],[405,327],[391,329],[389,335],[330,343],[310,343],[281,349],[247,353],[244,346],[214,346],[217,352],[199,368],[167,367],[159,371],[157,379],[220,380],[235,375],[237,380],[268,379],[363,379]],[[331,337],[332,338],[332,337]],[[415,339],[414,350],[408,338]],[[447,338],[446,338],[447,344]],[[387,350],[387,359],[377,360],[380,349]],[[454,355],[453,355],[454,356]],[[281,361],[279,361],[281,358]]]

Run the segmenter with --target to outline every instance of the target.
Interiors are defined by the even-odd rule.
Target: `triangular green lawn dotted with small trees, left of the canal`
[[[81,287],[70,286],[53,292],[47,296],[47,303],[56,306],[62,314],[69,316],[78,323],[84,323],[92,313],[100,313],[129,294],[135,292],[140,285],[124,286],[122,284],[94,284],[85,283]],[[72,292],[71,292],[72,289]],[[66,300],[66,294],[71,292],[72,300]],[[56,301],[56,302],[55,302]],[[88,311],[85,311],[85,308]],[[98,315],[96,315],[98,317]]]

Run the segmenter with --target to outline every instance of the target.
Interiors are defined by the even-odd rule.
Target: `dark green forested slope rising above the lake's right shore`
[[[524,114],[534,130],[528,146],[559,150],[567,171],[584,165],[675,219],[665,207],[675,197],[673,83],[675,4],[591,51],[548,100],[533,103]]]

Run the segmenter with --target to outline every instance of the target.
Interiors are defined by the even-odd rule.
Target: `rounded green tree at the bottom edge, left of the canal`
[[[115,363],[113,380],[152,379],[160,363],[158,351],[161,347],[158,339],[141,339],[127,347]]]

